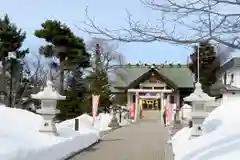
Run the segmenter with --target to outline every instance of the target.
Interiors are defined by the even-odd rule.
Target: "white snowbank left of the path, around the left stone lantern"
[[[101,131],[109,130],[109,114],[93,118],[79,117],[79,131],[74,119],[57,124],[59,136],[39,133],[40,115],[0,105],[0,160],[60,160],[97,142]]]

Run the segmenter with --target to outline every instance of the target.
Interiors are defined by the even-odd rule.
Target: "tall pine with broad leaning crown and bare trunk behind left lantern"
[[[50,45],[41,47],[40,53],[46,57],[57,57],[60,61],[60,92],[64,88],[64,70],[69,68],[88,67],[90,55],[86,52],[83,39],[77,37],[60,21],[47,20],[42,29],[36,30],[38,38],[45,39]]]

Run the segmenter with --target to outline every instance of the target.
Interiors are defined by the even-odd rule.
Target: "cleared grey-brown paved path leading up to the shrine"
[[[109,133],[71,160],[173,160],[169,135],[159,113],[148,111],[136,124]]]

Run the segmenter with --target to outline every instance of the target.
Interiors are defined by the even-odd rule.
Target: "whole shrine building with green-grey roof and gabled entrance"
[[[126,96],[128,107],[134,105],[134,119],[143,110],[162,110],[164,99],[180,107],[183,97],[193,90],[193,76],[183,64],[128,64],[116,66],[112,92]]]

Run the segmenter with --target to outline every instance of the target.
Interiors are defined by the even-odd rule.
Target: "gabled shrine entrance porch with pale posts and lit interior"
[[[151,68],[127,87],[127,105],[131,119],[137,121],[145,117],[147,111],[154,112],[162,118],[164,104],[170,95],[173,95],[179,104],[177,102],[180,99],[179,91],[176,85],[158,70]]]

